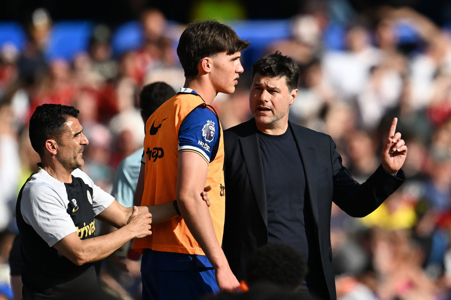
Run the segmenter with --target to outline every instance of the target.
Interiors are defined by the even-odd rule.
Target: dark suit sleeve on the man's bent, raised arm
[[[395,177],[379,165],[366,182],[359,184],[343,166],[335,142],[331,137],[329,139],[333,169],[332,200],[350,216],[362,218],[372,213],[405,181],[402,170]]]

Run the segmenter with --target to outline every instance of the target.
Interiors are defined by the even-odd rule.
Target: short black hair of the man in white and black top
[[[29,136],[33,149],[42,154],[46,140],[60,143],[64,133],[64,123],[68,117],[77,118],[79,110],[74,106],[43,104],[38,106],[30,118]]]

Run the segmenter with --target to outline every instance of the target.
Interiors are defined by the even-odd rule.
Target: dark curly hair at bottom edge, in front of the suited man
[[[255,250],[246,264],[249,287],[271,282],[289,290],[298,288],[307,273],[307,264],[290,245],[267,244]]]

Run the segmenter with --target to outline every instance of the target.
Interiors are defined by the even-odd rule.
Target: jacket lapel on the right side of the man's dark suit
[[[307,188],[310,197],[315,226],[318,228],[317,180],[315,177],[318,173],[317,156],[311,145],[312,141],[308,141],[304,138],[305,135],[302,132],[302,127],[293,126],[291,122],[288,124],[295,138],[302,165],[304,166],[305,187]]]

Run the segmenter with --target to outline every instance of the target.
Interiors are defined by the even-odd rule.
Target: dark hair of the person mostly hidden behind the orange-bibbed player
[[[149,118],[160,105],[174,95],[174,89],[166,82],[158,81],[148,84],[139,93],[139,107]]]

